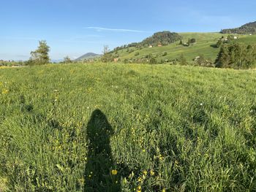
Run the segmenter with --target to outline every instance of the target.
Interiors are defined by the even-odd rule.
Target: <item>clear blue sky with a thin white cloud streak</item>
[[[139,42],[156,31],[220,31],[256,20],[255,0],[1,0],[0,59],[26,60],[45,39],[52,59]]]

